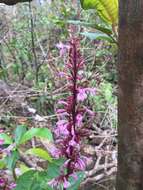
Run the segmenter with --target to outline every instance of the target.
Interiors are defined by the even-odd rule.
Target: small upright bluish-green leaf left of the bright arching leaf
[[[26,133],[26,126],[25,125],[18,125],[15,130],[15,143],[19,145],[23,135]]]

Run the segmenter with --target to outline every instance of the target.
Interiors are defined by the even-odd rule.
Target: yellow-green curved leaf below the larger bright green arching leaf
[[[47,151],[41,149],[41,148],[31,148],[26,151],[26,154],[31,154],[34,156],[38,156],[44,160],[47,160],[49,162],[52,162],[52,157],[48,154]]]

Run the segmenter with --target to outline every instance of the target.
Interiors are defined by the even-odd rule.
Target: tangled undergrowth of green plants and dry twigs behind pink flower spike
[[[57,176],[62,160],[51,164],[48,153],[51,145],[43,137],[52,138],[56,104],[67,93],[67,81],[59,76],[67,56],[61,55],[63,47],[58,48],[58,44],[67,44],[74,27],[85,58],[85,83],[96,88],[96,96],[90,95],[86,102],[96,113],[84,145],[92,160],[84,175],[79,174],[78,183],[81,189],[114,189],[116,28],[99,17],[98,9],[84,10],[79,1],[2,5],[0,15],[0,128],[6,135],[1,136],[5,139],[3,148],[11,144],[12,152],[7,162],[3,159],[0,162],[0,175],[5,175],[8,181],[17,181],[16,190],[50,189],[47,178]],[[33,132],[33,128],[37,131]],[[26,131],[30,131],[28,137],[24,136]],[[71,189],[78,186],[73,184]]]

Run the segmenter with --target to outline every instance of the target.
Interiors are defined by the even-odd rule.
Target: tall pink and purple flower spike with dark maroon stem
[[[58,122],[54,129],[56,147],[51,150],[55,158],[64,157],[66,161],[61,175],[49,182],[49,185],[56,187],[62,184],[64,189],[70,186],[69,177],[77,179],[76,172],[86,168],[88,158],[81,154],[81,145],[89,130],[84,126],[83,118],[86,114],[92,117],[94,113],[83,106],[83,101],[89,93],[95,94],[95,89],[82,84],[84,59],[80,54],[78,39],[69,42],[68,51],[69,59],[62,73],[68,82],[69,96],[57,103]]]

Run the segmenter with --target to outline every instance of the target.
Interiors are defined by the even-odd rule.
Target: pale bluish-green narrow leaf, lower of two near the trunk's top
[[[114,40],[112,37],[109,37],[106,34],[98,33],[98,32],[82,32],[81,35],[86,36],[90,40],[105,40],[110,43],[114,43]]]

